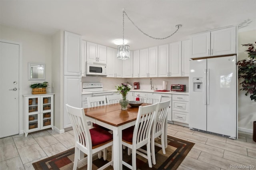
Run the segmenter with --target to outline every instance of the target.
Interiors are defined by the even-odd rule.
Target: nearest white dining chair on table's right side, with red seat
[[[152,168],[151,152],[150,152],[150,132],[154,121],[154,112],[157,103],[147,106],[140,106],[135,126],[122,130],[122,144],[128,147],[128,151],[132,150],[132,165],[122,161],[124,166],[132,170],[136,170],[136,153],[148,159],[148,166]],[[138,149],[147,146],[146,154]]]

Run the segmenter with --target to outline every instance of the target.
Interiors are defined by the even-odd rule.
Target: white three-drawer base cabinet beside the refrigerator
[[[188,95],[172,95],[172,121],[188,124]]]

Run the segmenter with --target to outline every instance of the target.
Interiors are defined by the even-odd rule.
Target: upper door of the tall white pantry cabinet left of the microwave
[[[80,35],[64,32],[64,75],[82,75],[81,44]]]

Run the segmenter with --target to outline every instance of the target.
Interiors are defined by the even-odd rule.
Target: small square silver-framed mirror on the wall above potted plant
[[[45,80],[45,63],[28,63],[28,80]]]

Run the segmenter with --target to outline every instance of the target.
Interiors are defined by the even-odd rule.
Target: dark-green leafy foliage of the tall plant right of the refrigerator
[[[237,62],[238,78],[242,78],[240,90],[246,91],[245,95],[250,94],[250,99],[256,102],[256,42],[255,44],[242,44],[247,46],[248,58]]]

